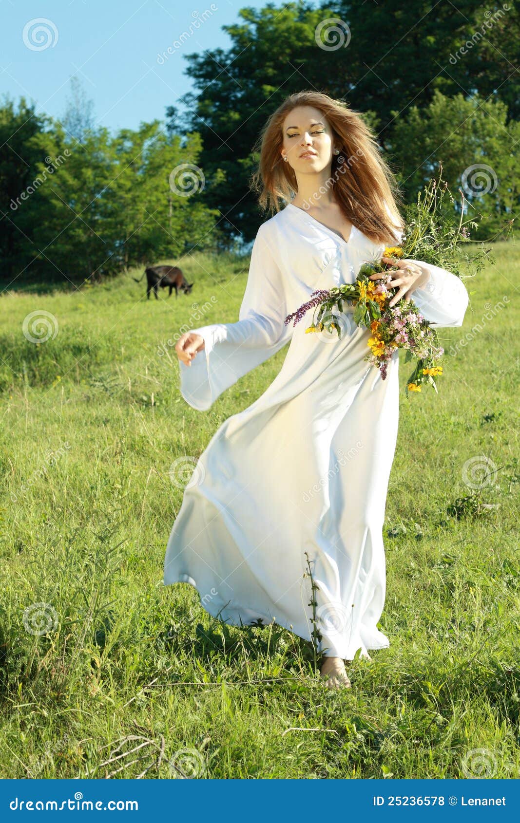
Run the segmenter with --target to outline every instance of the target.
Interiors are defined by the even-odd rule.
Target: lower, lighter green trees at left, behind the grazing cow
[[[221,244],[218,214],[199,198],[212,181],[196,133],[168,136],[156,120],[114,137],[84,129],[79,142],[21,99],[0,109],[0,137],[3,277],[76,285]]]

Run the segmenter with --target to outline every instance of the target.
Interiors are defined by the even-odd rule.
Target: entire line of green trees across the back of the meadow
[[[483,238],[518,212],[514,2],[418,2],[405,12],[401,0],[297,0],[239,16],[223,26],[229,49],[186,56],[194,91],[182,100],[185,128],[170,105],[166,120],[111,134],[77,85],[61,122],[23,97],[2,102],[2,279],[77,281],[241,248],[265,220],[249,188],[255,143],[274,108],[302,89],[363,115],[408,200],[441,160],[452,191],[461,186],[483,215]]]

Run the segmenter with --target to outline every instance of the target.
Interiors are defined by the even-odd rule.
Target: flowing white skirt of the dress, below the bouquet
[[[275,621],[353,659],[389,645],[382,541],[399,416],[397,352],[382,380],[370,332],[297,324],[274,382],[200,455],[166,546],[164,584],[186,582],[230,625]],[[199,352],[208,358],[213,352]],[[312,606],[310,562],[317,585]]]

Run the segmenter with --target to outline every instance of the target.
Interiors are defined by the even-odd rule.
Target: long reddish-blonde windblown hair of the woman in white
[[[330,188],[344,216],[375,243],[391,243],[396,228],[404,228],[395,175],[383,160],[377,139],[361,114],[320,91],[289,95],[265,123],[255,146],[255,151],[260,151],[259,165],[251,175],[251,188],[259,195],[260,207],[270,213],[279,212],[279,201],[285,205],[297,193],[294,170],[283,161],[280,151],[283,121],[289,112],[302,105],[313,106],[325,115],[335,146],[340,148],[340,154],[332,156]],[[392,223],[385,204],[396,223]]]

